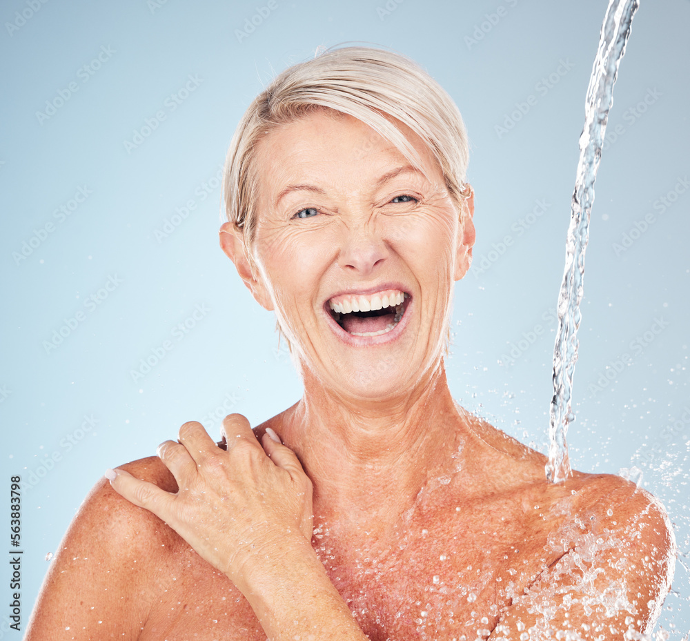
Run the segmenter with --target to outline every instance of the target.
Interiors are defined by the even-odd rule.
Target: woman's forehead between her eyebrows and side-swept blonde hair
[[[442,180],[431,151],[415,132],[395,126],[416,150],[429,179]],[[410,162],[388,139],[364,122],[334,110],[318,110],[275,128],[259,143],[255,172],[262,193],[282,190],[288,183],[339,179],[347,175],[373,181],[394,165]]]

